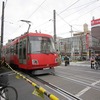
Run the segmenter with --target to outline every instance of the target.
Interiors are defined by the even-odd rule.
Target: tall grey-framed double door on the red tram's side
[[[27,39],[20,40],[19,42],[19,63],[26,64],[26,49],[27,48]]]

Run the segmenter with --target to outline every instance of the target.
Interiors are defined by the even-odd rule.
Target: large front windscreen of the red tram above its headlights
[[[29,37],[29,53],[54,53],[56,52],[52,38]]]

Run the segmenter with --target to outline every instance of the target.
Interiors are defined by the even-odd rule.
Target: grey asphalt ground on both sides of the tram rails
[[[71,62],[68,66],[62,63],[61,66],[55,68],[55,74],[38,77],[82,100],[100,100],[100,69],[91,69],[90,62]],[[74,100],[35,79],[30,79],[60,100]],[[34,87],[23,79],[16,79],[14,73],[9,74],[9,83],[17,89],[18,100],[41,100],[32,94]],[[46,97],[45,100],[49,99]]]

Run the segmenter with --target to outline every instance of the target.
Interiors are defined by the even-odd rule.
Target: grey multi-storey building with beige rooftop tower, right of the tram
[[[84,24],[84,32],[77,32],[70,38],[59,39],[58,50],[61,55],[67,54],[72,59],[89,59],[92,46],[91,32]]]

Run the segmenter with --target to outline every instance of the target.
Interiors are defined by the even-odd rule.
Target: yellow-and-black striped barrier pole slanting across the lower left
[[[30,80],[29,78],[27,78],[26,76],[22,75],[21,73],[19,73],[18,71],[14,70],[13,68],[11,68],[11,66],[4,62],[4,61],[1,61],[1,64],[5,63],[8,68],[13,71],[15,74],[19,75],[20,77],[22,77],[24,80],[26,80],[28,83],[30,83],[32,86],[35,87],[35,93],[37,92],[37,96],[40,96],[43,100],[43,94],[46,95],[47,97],[50,98],[50,100],[59,100],[58,97],[56,97],[55,95],[49,93],[48,91],[46,91],[43,87],[37,85],[36,83],[34,83],[32,80]],[[34,94],[33,92],[33,94]],[[39,95],[40,94],[40,95]]]

